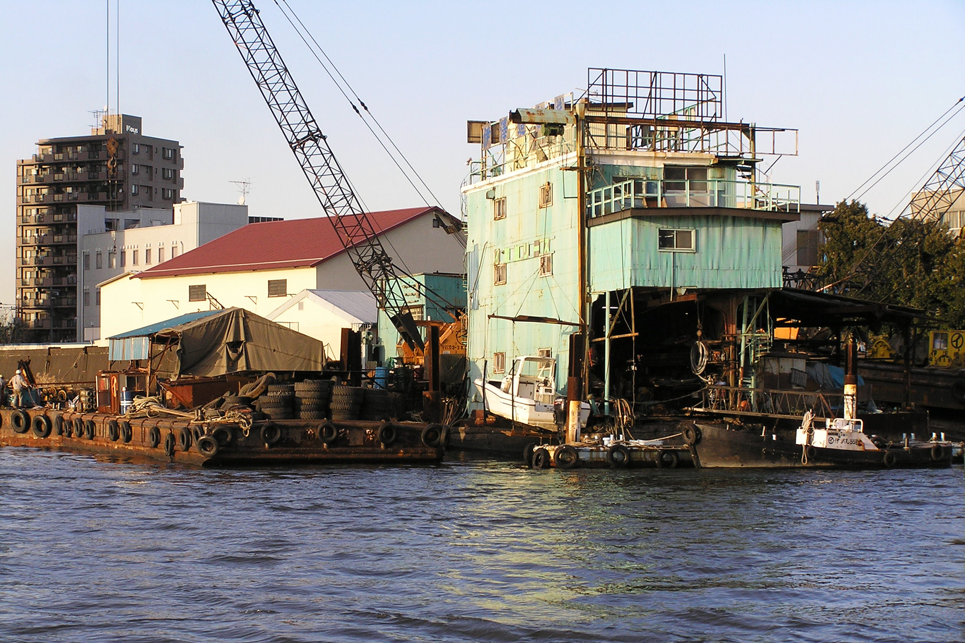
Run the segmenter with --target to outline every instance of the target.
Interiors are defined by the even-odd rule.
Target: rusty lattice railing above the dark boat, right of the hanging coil
[[[701,401],[694,411],[713,411],[740,415],[779,415],[803,417],[809,411],[815,418],[836,417],[843,394],[783,388],[746,388],[708,385],[700,391]]]

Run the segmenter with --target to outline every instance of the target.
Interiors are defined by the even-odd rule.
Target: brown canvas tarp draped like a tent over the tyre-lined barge
[[[317,371],[324,344],[244,308],[226,308],[173,324],[153,324],[110,337],[111,355],[123,342],[150,337],[153,344],[175,343],[173,374],[217,377],[244,371]],[[119,342],[115,351],[115,342]],[[154,349],[154,355],[160,349]]]

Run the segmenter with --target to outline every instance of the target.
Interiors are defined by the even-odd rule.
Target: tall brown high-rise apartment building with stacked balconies
[[[77,228],[77,205],[170,208],[181,201],[183,167],[177,141],[145,136],[141,119],[127,115],[104,116],[90,136],[43,139],[17,161],[16,305],[31,341],[83,340],[77,248],[89,230]],[[97,228],[117,221],[105,215]]]

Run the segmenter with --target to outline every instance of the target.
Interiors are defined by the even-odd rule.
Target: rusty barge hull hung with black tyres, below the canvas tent
[[[26,424],[24,415],[0,410],[0,446],[146,457],[206,468],[435,464],[445,455],[444,438],[429,433],[427,441],[426,425],[416,422],[274,420],[241,426],[48,409],[22,413]]]

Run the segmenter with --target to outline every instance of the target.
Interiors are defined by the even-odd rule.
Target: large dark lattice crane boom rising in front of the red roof
[[[291,78],[258,10],[250,0],[211,1],[355,270],[410,347],[414,344],[423,348],[415,320],[404,310],[400,290],[389,287],[400,273]]]

